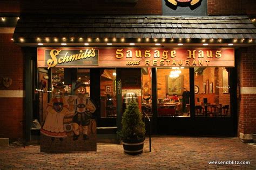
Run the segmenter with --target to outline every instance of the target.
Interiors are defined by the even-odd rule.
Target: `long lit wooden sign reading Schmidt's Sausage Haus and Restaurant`
[[[234,48],[37,48],[38,67],[234,67]]]

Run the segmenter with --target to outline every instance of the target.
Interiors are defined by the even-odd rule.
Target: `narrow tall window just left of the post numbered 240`
[[[100,74],[100,117],[116,118],[116,69],[101,69]]]

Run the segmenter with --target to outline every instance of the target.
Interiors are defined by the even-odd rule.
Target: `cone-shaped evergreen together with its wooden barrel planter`
[[[131,100],[124,112],[119,136],[123,140],[125,153],[140,154],[143,152],[145,124],[142,121],[138,103],[134,100]]]

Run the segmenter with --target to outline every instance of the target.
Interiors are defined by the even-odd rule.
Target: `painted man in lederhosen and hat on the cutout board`
[[[79,126],[82,125],[83,138],[89,139],[88,126],[90,124],[91,114],[95,112],[95,105],[87,98],[85,84],[77,82],[75,85],[75,115],[73,116],[73,140],[79,137]]]

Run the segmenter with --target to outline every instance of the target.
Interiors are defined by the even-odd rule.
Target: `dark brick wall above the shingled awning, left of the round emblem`
[[[139,0],[131,3],[96,1],[23,1],[21,11],[29,13],[83,13],[89,15],[161,15],[161,0]]]

